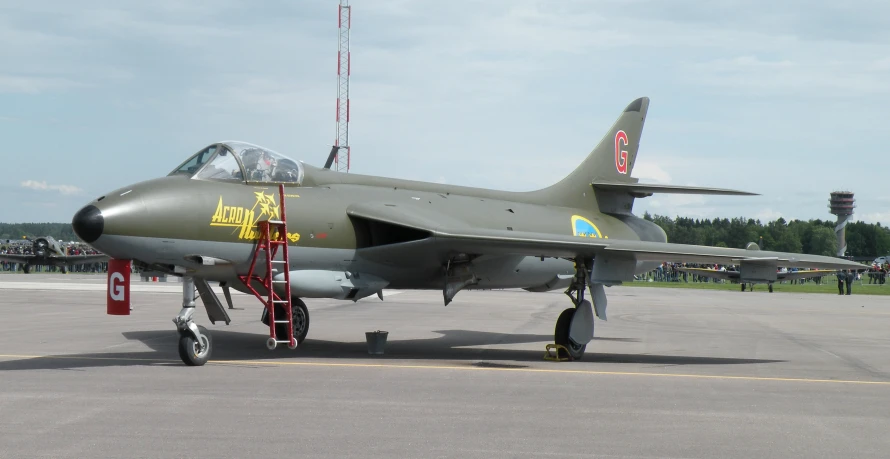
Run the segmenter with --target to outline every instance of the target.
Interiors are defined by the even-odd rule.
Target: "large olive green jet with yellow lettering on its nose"
[[[463,289],[566,289],[572,304],[556,318],[554,340],[580,359],[593,338],[594,315],[606,319],[604,287],[664,261],[733,263],[773,274],[779,265],[860,267],[824,256],[668,243],[659,226],[633,215],[636,198],[752,193],[631,177],[648,108],[648,98],[631,102],[580,166],[537,191],[343,174],[232,141],[200,150],[166,177],[107,193],[72,224],[115,259],[183,276],[183,308],[174,322],[189,365],[204,364],[212,345],[192,319],[195,288],[211,321],[228,323],[208,281],[225,292],[249,291],[239,276],[251,267],[264,220],[287,220],[289,268],[268,266],[276,292],[282,283],[290,287],[294,346],[308,332],[304,298],[355,301],[383,288],[435,289],[447,305]]]

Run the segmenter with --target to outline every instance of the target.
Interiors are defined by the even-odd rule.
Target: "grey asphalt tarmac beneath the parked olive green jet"
[[[229,326],[199,306],[212,362],[186,367],[179,284],[116,317],[104,281],[0,275],[0,457],[890,455],[887,297],[613,287],[584,360],[550,362],[559,292],[309,300],[275,351],[239,294]]]

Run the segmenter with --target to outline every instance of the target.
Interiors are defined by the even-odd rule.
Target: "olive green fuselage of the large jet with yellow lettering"
[[[304,186],[285,188],[290,268],[365,272],[392,288],[442,288],[444,260],[399,263],[398,257],[367,259],[362,250],[378,244],[347,214],[357,203],[379,203],[436,221],[474,228],[589,238],[663,240],[664,232],[631,215],[598,212],[592,190],[586,208],[546,204],[546,196],[363,177],[310,170]],[[308,185],[308,186],[307,186]],[[582,193],[579,193],[582,194]],[[179,266],[208,280],[232,281],[250,264],[256,223],[279,219],[276,185],[250,185],[170,176],[135,184],[93,201],[104,218],[99,250],[120,259]],[[641,231],[641,228],[643,229]],[[591,230],[593,229],[593,230]],[[400,242],[398,235],[384,241]],[[470,254],[472,255],[472,254]],[[194,261],[213,257],[213,265]],[[574,273],[568,260],[526,256],[480,257],[473,261],[480,282],[471,288],[539,288]],[[639,270],[646,269],[640,266]],[[232,284],[235,286],[235,284]],[[552,288],[565,285],[553,284]]]

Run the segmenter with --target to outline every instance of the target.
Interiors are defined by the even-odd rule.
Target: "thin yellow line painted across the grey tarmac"
[[[131,357],[85,357],[76,355],[4,355],[0,358],[7,359],[67,359],[67,360],[117,360],[123,362],[180,362],[176,359],[156,358],[131,358]],[[468,370],[468,371],[509,371],[518,373],[551,373],[551,374],[579,374],[596,376],[648,376],[660,378],[687,378],[687,379],[720,379],[738,381],[775,381],[775,382],[802,382],[802,383],[834,383],[834,384],[868,384],[877,386],[890,386],[890,381],[857,381],[843,379],[809,379],[809,378],[779,378],[767,376],[728,376],[728,375],[696,375],[684,373],[646,373],[632,371],[597,371],[597,370],[568,370],[559,368],[497,368],[458,365],[406,365],[385,363],[331,363],[331,362],[284,362],[277,360],[211,360],[208,364],[216,365],[269,365],[269,366],[303,366],[303,367],[341,367],[341,368],[392,368],[407,370]]]

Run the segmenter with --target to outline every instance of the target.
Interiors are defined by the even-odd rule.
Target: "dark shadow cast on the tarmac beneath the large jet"
[[[266,337],[258,333],[213,330],[211,362],[226,360],[274,361],[284,359],[351,359],[383,362],[387,360],[467,361],[479,367],[525,368],[522,363],[541,362],[540,350],[490,349],[473,346],[552,342],[551,335],[503,334],[471,330],[438,330],[440,336],[427,339],[389,340],[384,355],[369,355],[367,344],[307,339],[296,350],[280,346],[265,347]],[[0,371],[78,369],[113,366],[182,365],[176,350],[175,331],[125,332],[128,340],[139,341],[152,351],[66,354],[0,362]],[[594,338],[596,341],[635,342],[632,338]],[[653,365],[739,365],[776,363],[781,360],[694,357],[652,354],[608,354],[588,352],[582,362],[633,363]],[[454,365],[451,362],[451,365]]]

